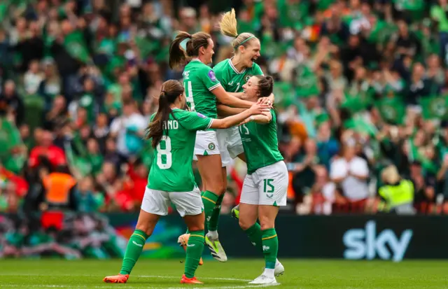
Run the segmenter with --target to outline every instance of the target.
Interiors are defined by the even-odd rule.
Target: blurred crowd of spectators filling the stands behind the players
[[[4,0],[0,211],[138,211],[176,30],[237,10],[276,80],[285,211],[448,213],[447,0]],[[223,212],[245,171],[229,169]],[[200,177],[195,172],[197,181]]]

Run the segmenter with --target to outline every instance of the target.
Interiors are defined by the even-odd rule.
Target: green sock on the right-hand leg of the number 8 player
[[[204,230],[190,232],[190,238],[187,244],[187,258],[185,261],[185,276],[193,278],[199,261],[201,260],[202,251],[204,251]]]

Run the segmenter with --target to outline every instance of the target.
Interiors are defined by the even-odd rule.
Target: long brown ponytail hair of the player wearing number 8
[[[159,108],[153,121],[146,127],[146,139],[153,139],[151,146],[155,148],[158,146],[163,136],[163,125],[169,119],[169,115],[173,113],[171,104],[183,94],[183,86],[178,80],[167,80],[162,84],[162,91],[159,96]],[[165,127],[167,127],[165,125]],[[165,134],[168,135],[168,130],[165,129]]]

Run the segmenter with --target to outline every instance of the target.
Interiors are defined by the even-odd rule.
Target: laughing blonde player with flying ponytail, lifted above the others
[[[251,33],[237,32],[237,18],[235,10],[225,13],[220,22],[221,34],[235,38],[232,41],[235,56],[225,59],[214,66],[216,78],[220,81],[224,90],[232,93],[235,97],[242,97],[243,85],[251,76],[262,76],[263,73],[260,66],[254,61],[260,57],[260,41]],[[271,94],[265,99],[267,103],[274,103],[274,95]],[[268,102],[270,101],[270,102]],[[225,116],[226,111],[218,111],[220,115]],[[222,162],[222,178],[224,180],[224,188],[227,188],[227,171],[226,167],[235,157],[244,159],[243,144],[239,136],[238,128],[223,129],[216,132],[218,145],[221,153]],[[218,240],[218,219],[221,213],[221,202],[223,202],[224,194],[217,201],[213,213],[208,224],[208,230],[205,237],[207,246],[211,254],[216,260],[227,260],[225,252]]]

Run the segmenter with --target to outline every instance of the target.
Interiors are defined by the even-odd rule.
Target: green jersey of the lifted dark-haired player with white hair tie
[[[191,111],[197,111],[209,118],[216,118],[216,97],[211,90],[220,85],[211,67],[203,64],[199,59],[192,59],[183,69],[183,87],[185,87],[187,104]]]

